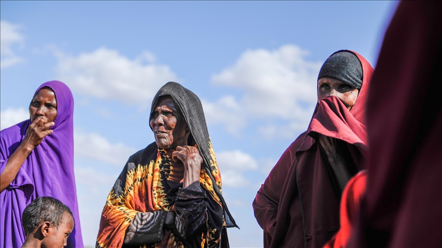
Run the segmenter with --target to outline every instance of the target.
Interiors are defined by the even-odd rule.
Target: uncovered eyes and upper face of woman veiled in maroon
[[[332,78],[321,78],[318,81],[318,102],[327,96],[337,96],[348,110],[355,105],[358,99],[359,90],[340,80]]]

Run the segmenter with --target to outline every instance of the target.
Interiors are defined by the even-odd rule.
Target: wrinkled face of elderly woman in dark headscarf
[[[160,98],[149,123],[159,147],[187,145],[190,131],[184,118],[180,118],[179,110],[170,96]]]

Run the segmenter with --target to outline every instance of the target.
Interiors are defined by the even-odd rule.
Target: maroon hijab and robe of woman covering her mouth
[[[351,52],[351,51],[350,51]],[[352,52],[354,53],[354,52]],[[364,105],[373,68],[359,54],[364,76],[350,111],[336,96],[323,98],[306,132],[284,152],[256,194],[253,209],[264,247],[322,246],[339,229],[340,195],[330,181],[317,134],[345,141],[357,169],[365,161]]]

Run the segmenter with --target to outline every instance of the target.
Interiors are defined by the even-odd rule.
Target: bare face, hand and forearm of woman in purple
[[[55,93],[49,89],[40,89],[32,98],[29,114],[31,125],[26,131],[25,138],[8,158],[5,169],[0,175],[0,192],[15,179],[18,170],[32,150],[41,143],[43,138],[54,132],[50,128],[55,125],[54,120],[57,116]]]

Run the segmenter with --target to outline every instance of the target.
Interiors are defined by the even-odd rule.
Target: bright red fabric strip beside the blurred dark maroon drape
[[[333,238],[331,238],[324,248],[341,248],[345,247],[353,230],[352,222],[356,214],[358,214],[361,198],[365,192],[367,183],[367,170],[359,172],[355,177],[348,181],[341,197],[341,209],[339,211],[339,219],[341,228]]]

